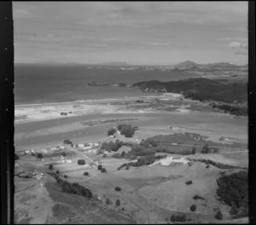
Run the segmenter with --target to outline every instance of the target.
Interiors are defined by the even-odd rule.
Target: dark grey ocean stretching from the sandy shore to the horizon
[[[91,87],[90,82],[135,84],[140,81],[171,81],[197,77],[172,71],[88,68],[81,65],[15,65],[15,105],[86,101],[152,95],[140,89],[113,86]],[[155,94],[154,94],[155,95]]]

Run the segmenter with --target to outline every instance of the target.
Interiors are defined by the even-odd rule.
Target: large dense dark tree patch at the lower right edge
[[[231,214],[248,214],[248,173],[239,171],[217,180],[217,195],[221,201],[232,207]]]

